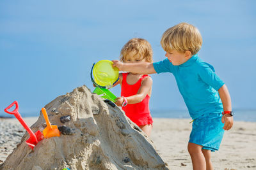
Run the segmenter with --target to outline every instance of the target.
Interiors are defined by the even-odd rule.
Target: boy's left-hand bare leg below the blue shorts
[[[188,152],[190,154],[193,170],[205,170],[206,162],[205,157],[202,152],[201,145],[196,145],[195,143],[188,143]]]

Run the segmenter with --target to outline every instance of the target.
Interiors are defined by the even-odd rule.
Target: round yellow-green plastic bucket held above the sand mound
[[[118,81],[118,68],[112,67],[111,60],[100,60],[94,63],[91,70],[91,79],[96,87],[106,88],[112,87]],[[94,76],[94,80],[92,77]]]

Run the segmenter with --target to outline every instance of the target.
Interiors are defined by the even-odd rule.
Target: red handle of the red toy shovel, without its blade
[[[10,108],[12,108],[12,106],[15,104],[15,110],[13,111],[8,111]],[[33,131],[31,131],[31,129],[28,127],[28,125],[26,124],[26,122],[24,122],[23,118],[20,116],[19,113],[19,104],[17,101],[14,101],[12,104],[10,104],[10,106],[8,106],[7,108],[4,109],[4,111],[6,113],[12,114],[14,115],[20,122],[20,124],[24,127],[24,129],[26,129],[26,131],[28,131],[30,138],[34,138],[35,141],[37,142],[36,136],[34,134]]]

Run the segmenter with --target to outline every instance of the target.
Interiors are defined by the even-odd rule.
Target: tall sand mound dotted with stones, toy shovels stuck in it
[[[31,150],[24,134],[0,169],[168,169],[150,138],[124,112],[85,85],[45,106],[60,137],[42,139]],[[40,113],[31,126],[43,131]]]

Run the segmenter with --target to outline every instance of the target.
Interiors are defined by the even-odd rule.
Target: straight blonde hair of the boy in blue
[[[189,50],[192,55],[195,55],[202,46],[202,36],[196,27],[182,22],[163,33],[161,45],[166,52]]]

